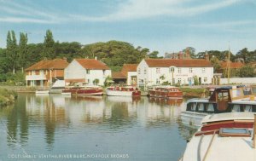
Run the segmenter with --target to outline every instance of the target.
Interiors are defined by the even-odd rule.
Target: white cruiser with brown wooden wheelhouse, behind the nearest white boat
[[[181,113],[183,124],[198,128],[202,118],[212,113],[256,112],[256,87],[220,87],[209,98],[190,99]]]

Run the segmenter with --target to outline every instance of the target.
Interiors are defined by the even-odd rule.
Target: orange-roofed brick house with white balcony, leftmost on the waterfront
[[[49,86],[55,80],[64,79],[64,68],[67,67],[66,59],[41,60],[26,68],[26,86]]]

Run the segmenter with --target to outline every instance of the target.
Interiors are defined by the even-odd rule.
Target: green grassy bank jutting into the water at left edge
[[[8,89],[0,89],[0,106],[7,106],[15,102],[17,93]]]

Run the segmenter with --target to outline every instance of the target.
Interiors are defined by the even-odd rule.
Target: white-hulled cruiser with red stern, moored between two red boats
[[[109,96],[141,96],[141,91],[137,87],[108,87],[106,95]]]

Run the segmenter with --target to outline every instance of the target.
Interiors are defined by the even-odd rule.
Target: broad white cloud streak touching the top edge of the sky
[[[208,3],[201,3],[199,0],[129,0],[120,3],[112,14],[98,17],[81,14],[70,14],[75,19],[84,21],[116,21],[116,20],[137,20],[152,18],[155,16],[192,16],[217,9],[222,9],[240,2],[241,0],[218,0]]]

